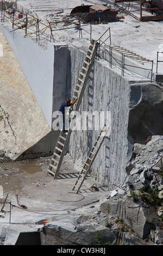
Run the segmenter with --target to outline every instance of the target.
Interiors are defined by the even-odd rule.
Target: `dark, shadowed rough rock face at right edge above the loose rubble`
[[[163,135],[163,88],[154,83],[131,85],[128,131],[135,143]]]

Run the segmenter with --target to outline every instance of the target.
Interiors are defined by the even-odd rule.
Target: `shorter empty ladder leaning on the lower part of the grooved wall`
[[[105,127],[105,125],[104,125],[104,127]],[[103,129],[104,129],[104,127],[103,127]],[[76,180],[76,182],[75,182],[75,184],[72,188],[72,190],[74,190],[77,187],[77,192],[76,193],[79,192],[80,187],[83,185],[83,182],[84,182],[87,174],[89,173],[89,170],[92,166],[92,163],[95,160],[99,149],[101,148],[101,145],[104,141],[104,138],[105,138],[106,134],[108,133],[108,130],[104,131],[103,129],[100,131],[100,133],[99,133],[99,135],[98,135],[98,137],[95,141],[95,144],[93,145],[89,156],[87,156],[87,160],[84,163],[83,168],[82,168],[82,170],[81,170],[81,172],[80,172],[80,174],[79,174],[79,176],[78,176],[78,178],[77,178],[77,180]],[[80,178],[81,178],[81,180],[80,180]],[[77,184],[78,184],[78,186],[77,186]]]

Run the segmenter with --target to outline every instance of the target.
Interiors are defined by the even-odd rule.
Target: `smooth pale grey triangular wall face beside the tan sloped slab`
[[[11,29],[4,26],[1,26],[1,29],[51,127],[54,46],[48,44],[47,50],[44,51],[34,40],[25,38],[22,33],[10,33]]]

